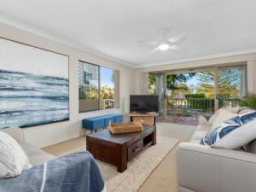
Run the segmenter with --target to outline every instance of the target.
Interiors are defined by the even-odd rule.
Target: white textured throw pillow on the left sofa
[[[15,177],[31,164],[13,137],[0,131],[0,178]]]

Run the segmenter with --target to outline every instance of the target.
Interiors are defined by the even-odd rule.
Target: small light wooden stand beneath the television
[[[137,113],[130,112],[128,115],[131,117],[131,122],[139,122],[143,119],[143,125],[155,125],[155,118],[158,113],[148,112],[148,113]]]

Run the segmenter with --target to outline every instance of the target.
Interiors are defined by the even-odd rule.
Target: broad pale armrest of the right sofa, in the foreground
[[[254,191],[256,154],[197,143],[177,147],[178,186],[194,191]]]

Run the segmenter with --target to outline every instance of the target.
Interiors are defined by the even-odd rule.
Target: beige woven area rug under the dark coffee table
[[[157,144],[145,149],[128,162],[125,172],[117,172],[116,166],[96,160],[108,192],[136,192],[147,177],[160,164],[176,145],[178,140],[170,137],[157,137]],[[67,154],[83,151],[84,146],[75,148]],[[63,154],[62,154],[63,155]]]

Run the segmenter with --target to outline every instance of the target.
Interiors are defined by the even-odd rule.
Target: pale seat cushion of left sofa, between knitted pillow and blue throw
[[[34,147],[30,143],[19,142],[20,147],[25,151],[30,163],[32,166],[43,164],[46,161],[54,160],[55,156],[52,154],[48,154],[43,150]]]

